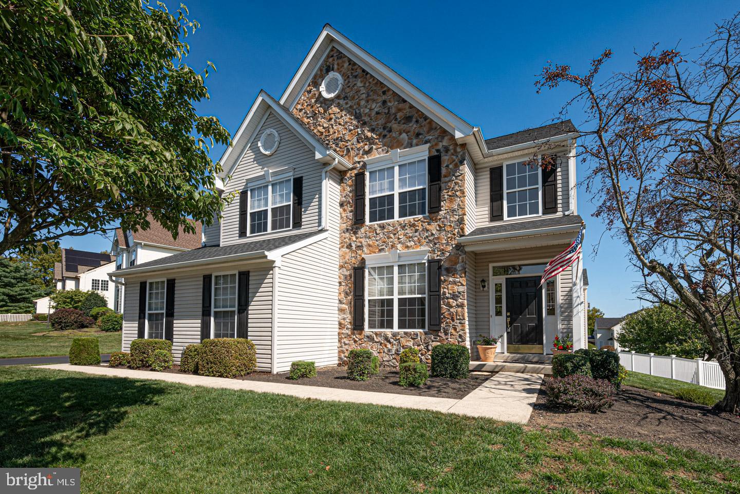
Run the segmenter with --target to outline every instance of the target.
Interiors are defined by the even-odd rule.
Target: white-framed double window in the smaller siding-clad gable
[[[293,179],[249,189],[249,235],[292,227]]]

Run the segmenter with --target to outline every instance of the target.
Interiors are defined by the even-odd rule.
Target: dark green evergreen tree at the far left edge
[[[33,300],[46,295],[34,278],[27,264],[0,258],[0,314],[33,313]]]

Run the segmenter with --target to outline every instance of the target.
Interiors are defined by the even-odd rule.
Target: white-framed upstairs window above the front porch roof
[[[505,218],[525,218],[542,214],[540,190],[542,170],[539,164],[515,161],[504,164]]]

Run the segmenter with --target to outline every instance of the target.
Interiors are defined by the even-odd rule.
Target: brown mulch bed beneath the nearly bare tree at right
[[[602,413],[563,412],[539,392],[530,427],[568,427],[613,438],[638,439],[740,459],[740,417],[710,413],[710,407],[653,391],[622,387],[614,406]]]

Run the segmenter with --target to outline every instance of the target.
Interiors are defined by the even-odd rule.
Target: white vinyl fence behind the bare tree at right
[[[660,356],[650,353],[619,352],[619,362],[636,373],[657,375],[676,381],[724,390],[724,375],[719,364],[701,358],[691,360],[675,355]]]

